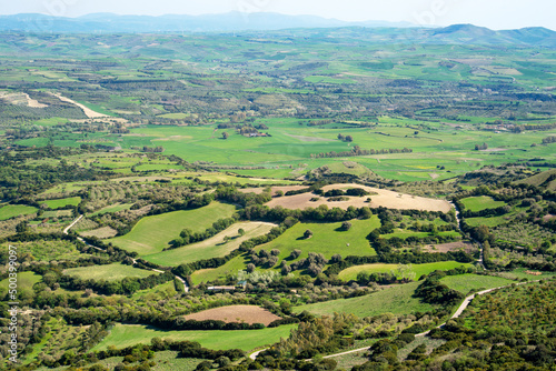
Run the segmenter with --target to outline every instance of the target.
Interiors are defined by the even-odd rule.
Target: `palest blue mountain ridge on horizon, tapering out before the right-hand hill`
[[[354,26],[404,28],[413,24],[386,21],[346,22],[315,16],[286,16],[268,12],[241,13],[237,11],[222,14],[168,14],[160,17],[112,13],[93,13],[78,18],[44,14],[0,16],[0,31],[28,32],[230,32]]]

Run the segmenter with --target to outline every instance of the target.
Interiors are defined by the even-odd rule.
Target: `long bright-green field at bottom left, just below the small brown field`
[[[208,349],[241,349],[249,351],[258,347],[272,344],[279,341],[280,338],[288,338],[290,330],[295,327],[296,324],[262,330],[163,331],[141,324],[117,323],[108,337],[92,348],[92,351],[106,350],[110,345],[121,349],[139,343],[147,344],[150,343],[150,339],[156,337],[178,341],[197,341]]]

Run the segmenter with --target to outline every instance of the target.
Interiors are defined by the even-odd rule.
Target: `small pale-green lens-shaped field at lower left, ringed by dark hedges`
[[[71,268],[63,271],[64,274],[78,277],[82,280],[106,280],[118,281],[126,277],[146,278],[152,274],[159,274],[153,271],[133,268],[131,265],[113,263],[108,265],[91,265]]]

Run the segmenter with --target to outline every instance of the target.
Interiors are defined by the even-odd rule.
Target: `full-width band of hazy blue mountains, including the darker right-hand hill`
[[[261,32],[268,37],[365,39],[377,43],[439,43],[556,48],[556,32],[542,27],[494,31],[473,24],[420,28],[408,22],[346,22],[315,16],[241,13],[179,16],[118,16],[93,13],[78,18],[44,14],[0,16],[1,31],[79,33]]]

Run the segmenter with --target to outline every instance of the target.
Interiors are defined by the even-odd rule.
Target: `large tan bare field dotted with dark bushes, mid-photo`
[[[294,189],[299,189],[304,187],[298,187]],[[445,200],[435,200],[427,199],[418,195],[410,195],[398,193],[385,189],[371,188],[360,184],[330,184],[326,186],[322,189],[325,191],[331,189],[348,189],[348,188],[363,188],[366,191],[370,192],[371,202],[366,202],[367,197],[349,197],[349,201],[327,201],[327,198],[319,197],[318,201],[310,201],[310,199],[316,198],[317,195],[314,193],[301,193],[295,195],[287,195],[272,199],[270,202],[266,204],[270,208],[280,205],[286,209],[307,209],[307,208],[317,208],[320,204],[326,204],[329,208],[340,208],[347,209],[349,207],[363,208],[389,208],[389,209],[399,209],[399,210],[426,210],[426,211],[441,211],[448,212],[450,210],[450,204]],[[279,188],[277,188],[279,189]],[[275,189],[272,189],[272,192]],[[377,194],[373,194],[377,193]]]

